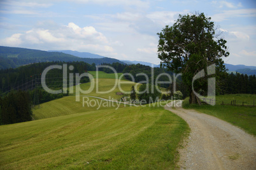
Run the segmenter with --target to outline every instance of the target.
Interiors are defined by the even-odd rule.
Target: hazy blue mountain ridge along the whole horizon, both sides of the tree
[[[91,57],[91,58],[90,58]],[[100,65],[103,63],[112,64],[119,62],[121,64],[142,64],[145,66],[152,66],[150,62],[137,60],[118,60],[110,57],[104,57],[89,52],[77,52],[72,50],[36,50],[30,48],[0,46],[0,69],[15,68],[31,64],[34,62],[50,62],[50,61],[83,61],[88,64],[95,63]],[[241,74],[256,74],[256,66],[245,66],[243,64],[232,65],[224,64],[228,72],[238,72]],[[153,67],[160,67],[160,65],[153,64]]]

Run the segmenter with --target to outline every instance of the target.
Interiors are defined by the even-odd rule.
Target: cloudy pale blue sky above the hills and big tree
[[[256,66],[256,1],[0,0],[0,45],[76,50],[159,64],[157,32],[200,12],[227,40],[227,64]]]

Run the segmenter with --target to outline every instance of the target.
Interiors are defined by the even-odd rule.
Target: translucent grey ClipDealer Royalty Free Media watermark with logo
[[[115,75],[115,83],[113,85],[113,87],[110,90],[106,90],[106,91],[100,91],[99,90],[99,69],[100,68],[107,68],[107,69],[111,69],[113,71],[113,74]],[[62,89],[59,90],[53,90],[47,87],[46,85],[46,74],[48,73],[48,71],[50,71],[51,69],[62,69]],[[76,101],[79,102],[80,98],[82,97],[82,104],[83,107],[97,107],[97,110],[99,110],[99,108],[101,107],[116,107],[116,109],[118,109],[120,107],[120,104],[125,104],[125,105],[129,105],[129,106],[143,106],[143,104],[146,104],[145,100],[141,100],[141,101],[128,101],[127,99],[129,97],[124,97],[124,102],[120,102],[117,101],[111,97],[109,97],[109,99],[103,99],[101,97],[95,97],[95,96],[87,96],[89,95],[92,91],[96,92],[96,94],[108,94],[110,92],[113,92],[113,90],[116,90],[118,88],[118,90],[120,92],[122,92],[122,94],[126,94],[129,95],[131,94],[131,91],[125,91],[122,89],[122,84],[129,84],[131,85],[131,83],[134,85],[135,82],[135,78],[132,74],[130,73],[124,73],[121,76],[118,77],[118,73],[117,71],[111,67],[111,66],[97,66],[96,67],[96,77],[94,78],[94,76],[92,76],[92,74],[90,73],[69,73],[68,74],[68,70],[69,71],[73,71],[74,67],[73,66],[69,66],[68,64],[63,64],[62,66],[60,65],[52,65],[52,66],[48,66],[46,67],[46,69],[43,71],[43,73],[41,74],[41,85],[43,87],[43,89],[50,93],[50,94],[66,94],[69,90],[69,94],[75,94],[76,96]],[[210,74],[215,74],[215,64],[212,64],[211,66],[207,67],[207,73],[208,75]],[[136,94],[143,94],[143,93],[150,93],[153,92],[153,90],[155,90],[153,88],[153,86],[150,87],[151,85],[155,85],[156,90],[160,93],[161,90],[159,89],[159,85],[160,84],[172,84],[173,85],[173,92],[176,91],[176,81],[178,76],[181,76],[182,74],[175,74],[173,73],[173,76],[171,76],[170,74],[167,73],[160,73],[156,76],[155,81],[153,79],[151,79],[148,77],[147,74],[145,73],[138,73],[136,74],[136,76],[144,76],[145,80],[144,81],[139,81],[138,83],[136,83],[134,85],[134,89],[136,89]],[[122,81],[122,78],[124,76],[129,76],[132,80],[131,81]],[[153,66],[151,69],[151,76],[154,77],[154,71],[153,71]],[[160,77],[162,76],[166,76],[168,78],[168,81],[159,81]],[[205,76],[204,74],[204,69],[199,71],[199,73],[197,73],[193,80],[192,80],[192,90],[194,92],[194,94],[196,94],[197,97],[203,97],[201,96],[199,93],[197,93],[194,90],[194,81],[196,81],[199,78],[203,78]],[[90,82],[90,87],[86,90],[81,89],[80,85],[80,80],[84,77],[89,78],[89,82]],[[69,81],[68,81],[69,80]],[[75,83],[74,83],[75,80]],[[139,92],[138,86],[145,83],[146,84],[146,89],[143,92]],[[150,89],[151,88],[151,89]],[[75,89],[75,92],[74,92]],[[99,95],[100,96],[100,95]],[[215,99],[215,78],[208,78],[208,97],[211,97],[211,99]],[[207,97],[206,97],[207,98]],[[150,99],[150,105],[152,106],[165,106],[166,105],[166,101],[160,100],[159,97],[157,97],[157,99],[153,100]],[[177,103],[176,103],[177,105]],[[211,103],[211,105],[215,105],[215,103]]]

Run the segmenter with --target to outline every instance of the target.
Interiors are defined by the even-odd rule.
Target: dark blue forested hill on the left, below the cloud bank
[[[27,48],[0,46],[0,69],[15,68],[26,64],[50,61],[83,61],[87,62],[88,64],[95,63],[96,65],[103,63],[112,64],[113,62],[125,64],[120,60],[111,59],[108,57],[101,59],[89,59],[76,57],[74,55],[62,52],[46,52],[42,50],[32,50]]]

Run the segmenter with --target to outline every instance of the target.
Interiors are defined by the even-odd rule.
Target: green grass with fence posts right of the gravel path
[[[216,105],[211,106],[208,104],[203,104],[199,106],[197,104],[189,104],[188,98],[183,101],[183,108],[185,109],[194,109],[200,111],[201,113],[206,113],[208,115],[212,115],[214,117],[225,120],[226,122],[231,123],[232,125],[236,125],[241,127],[246,132],[256,135],[256,108],[254,107],[246,107],[246,106],[228,106],[228,105],[220,105],[222,101],[225,103],[229,103],[232,100],[236,100],[236,104],[244,103],[248,105],[253,104],[253,99],[256,99],[256,95],[254,94],[228,94],[216,96]]]

